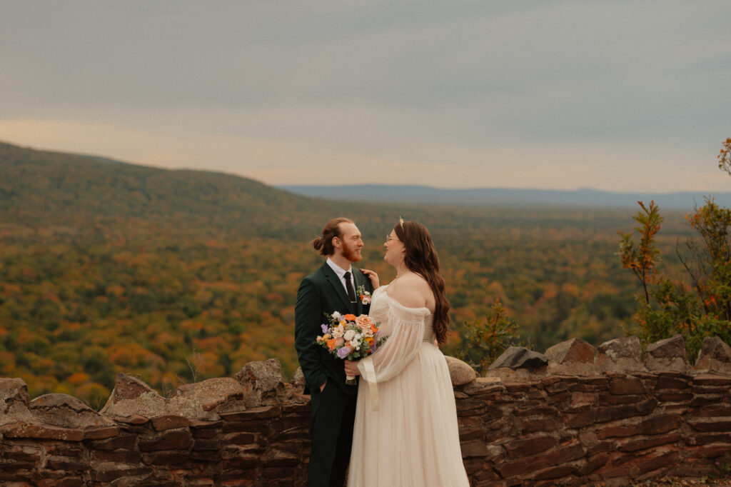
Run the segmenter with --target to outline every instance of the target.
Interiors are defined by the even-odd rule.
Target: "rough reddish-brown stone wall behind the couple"
[[[731,452],[731,348],[681,337],[511,348],[488,377],[448,358],[473,486],[626,485],[714,472]],[[120,374],[104,409],[63,394],[30,401],[0,379],[0,483],[7,486],[302,486],[309,401],[279,362],[159,396]],[[725,461],[731,462],[731,459]]]

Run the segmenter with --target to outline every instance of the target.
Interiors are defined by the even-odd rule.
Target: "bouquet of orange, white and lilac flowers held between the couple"
[[[368,357],[386,341],[378,329],[380,322],[374,322],[367,314],[325,314],[327,324],[323,323],[322,335],[317,344],[325,347],[331,354],[344,360],[358,360]],[[355,377],[347,376],[345,383],[355,385]]]

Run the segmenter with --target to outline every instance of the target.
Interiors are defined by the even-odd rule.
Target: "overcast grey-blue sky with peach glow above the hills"
[[[731,191],[731,1],[0,0],[0,140],[266,184]]]

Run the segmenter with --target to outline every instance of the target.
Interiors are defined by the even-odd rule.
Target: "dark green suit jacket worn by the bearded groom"
[[[371,279],[354,266],[351,268],[356,294],[360,286],[372,293]],[[352,309],[343,283],[327,262],[302,280],[295,303],[295,348],[305,376],[306,394],[319,388],[325,381],[338,385],[346,394],[357,393],[357,387],[345,383],[343,360],[330,355],[330,352],[315,343],[315,339],[322,335],[321,325],[325,323],[326,313],[354,313],[357,316],[368,314],[370,308],[369,304],[363,306],[357,300],[356,309]]]

